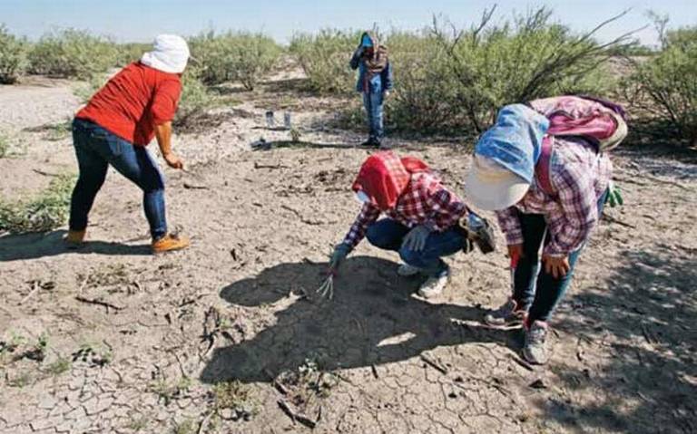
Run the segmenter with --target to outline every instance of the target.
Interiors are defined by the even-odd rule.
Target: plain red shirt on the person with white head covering
[[[131,63],[96,92],[76,118],[93,121],[134,145],[147,146],[155,125],[172,121],[182,94],[179,74]]]

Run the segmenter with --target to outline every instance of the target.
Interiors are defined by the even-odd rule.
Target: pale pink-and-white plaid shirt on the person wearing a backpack
[[[556,194],[549,196],[533,183],[520,202],[498,211],[506,244],[523,244],[521,212],[545,215],[549,231],[545,255],[566,256],[579,249],[598,221],[597,202],[608,188],[612,172],[607,155],[596,154],[584,140],[555,138],[549,178]]]

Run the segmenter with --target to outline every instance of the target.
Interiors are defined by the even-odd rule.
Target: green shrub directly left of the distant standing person
[[[323,29],[319,34],[295,34],[290,53],[308,77],[310,88],[319,93],[349,94],[356,73],[348,67],[358,45],[360,32]]]

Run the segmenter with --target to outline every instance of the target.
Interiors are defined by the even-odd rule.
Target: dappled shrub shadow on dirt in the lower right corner
[[[564,388],[590,389],[594,400],[548,400],[548,417],[584,432],[697,432],[695,253],[660,245],[623,252],[608,289],[570,300],[574,315],[558,328],[586,344],[608,335],[616,342],[606,346],[610,356],[600,368],[559,372]]]

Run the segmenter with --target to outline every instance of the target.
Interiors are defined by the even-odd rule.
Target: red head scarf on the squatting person
[[[397,205],[412,173],[426,171],[428,166],[420,159],[400,159],[389,150],[376,152],[360,167],[352,188],[356,192],[362,190],[375,205],[385,211]]]

